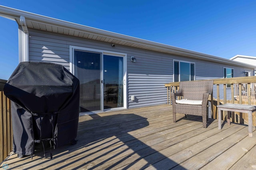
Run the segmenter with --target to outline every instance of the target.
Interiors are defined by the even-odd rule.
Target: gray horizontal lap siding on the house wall
[[[126,53],[128,108],[167,103],[167,89],[164,84],[173,81],[173,60],[195,63],[196,80],[223,78],[223,67],[229,67],[124,45],[113,48],[111,44],[114,42],[105,43],[35,29],[29,29],[29,35],[30,61],[62,64],[67,69],[70,67],[70,45]],[[136,63],[130,61],[131,56],[136,57]],[[234,75],[243,76],[244,70],[245,68],[234,68]],[[131,101],[133,95],[135,100]]]

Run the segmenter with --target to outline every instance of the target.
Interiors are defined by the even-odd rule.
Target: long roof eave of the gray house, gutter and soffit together
[[[119,44],[119,45],[125,45],[130,47],[136,47],[140,49],[147,49],[147,50],[152,50],[152,51],[157,51],[162,53],[173,54],[173,55],[180,55],[180,56],[190,57],[194,59],[212,61],[212,62],[217,62],[222,64],[229,64],[233,66],[254,68],[253,66],[240,63],[237,61],[230,61],[228,59],[216,57],[213,55],[208,55],[208,54],[199,53],[199,52],[191,51],[187,49],[182,49],[182,48],[178,48],[178,47],[174,47],[174,46],[170,46],[162,43],[148,41],[145,39],[131,37],[128,35],[122,35],[119,33],[105,31],[102,29],[88,27],[85,25],[77,24],[77,23],[58,20],[55,18],[33,14],[30,12],[17,10],[14,8],[9,8],[6,6],[0,6],[0,16],[16,21],[18,25],[21,25],[25,29],[26,27],[40,29],[44,31],[54,32],[54,33],[61,33],[65,35],[72,35],[76,37],[103,41],[111,44],[114,43],[115,45]]]

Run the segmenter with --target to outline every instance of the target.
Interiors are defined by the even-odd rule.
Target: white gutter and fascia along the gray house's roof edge
[[[229,59],[224,59],[224,58],[216,57],[213,55],[207,55],[204,53],[199,53],[196,51],[182,49],[182,48],[178,48],[178,47],[174,47],[174,46],[166,45],[166,44],[162,44],[162,43],[156,43],[154,41],[131,37],[128,35],[114,33],[111,31],[105,31],[102,29],[89,27],[89,26],[85,26],[85,25],[81,25],[81,24],[77,24],[77,23],[58,20],[55,18],[50,18],[50,17],[46,17],[46,16],[42,16],[42,15],[30,13],[30,12],[25,12],[22,10],[17,10],[17,9],[5,7],[5,6],[0,6],[0,16],[1,15],[5,15],[5,16],[7,15],[10,18],[14,18],[16,20],[17,20],[17,18],[19,19],[20,16],[24,16],[26,18],[26,21],[33,21],[33,22],[47,24],[47,25],[51,25],[51,26],[55,26],[55,27],[61,27],[64,29],[70,29],[73,31],[82,31],[85,33],[91,33],[91,34],[98,35],[98,36],[103,36],[103,37],[112,38],[112,39],[118,39],[120,41],[137,43],[137,44],[145,45],[145,46],[152,47],[152,48],[162,49],[162,50],[168,51],[170,54],[178,53],[178,55],[182,55],[185,57],[191,57],[191,58],[196,58],[196,59],[213,61],[213,62],[217,62],[217,63],[233,64],[236,66],[248,67],[247,64],[235,62],[235,61],[232,61]],[[17,20],[17,22],[18,22],[18,20]],[[18,24],[20,24],[20,23],[18,23]]]

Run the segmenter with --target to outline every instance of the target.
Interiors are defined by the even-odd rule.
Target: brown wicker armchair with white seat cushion
[[[176,122],[176,113],[188,115],[200,115],[203,119],[203,127],[206,128],[207,104],[209,94],[212,94],[213,80],[180,82],[177,93],[171,93],[173,122]],[[177,96],[183,96],[182,100],[176,100]]]

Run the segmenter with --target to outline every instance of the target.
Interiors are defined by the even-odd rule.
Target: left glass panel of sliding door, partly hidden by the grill
[[[101,53],[74,50],[74,75],[80,80],[80,112],[101,109]]]

